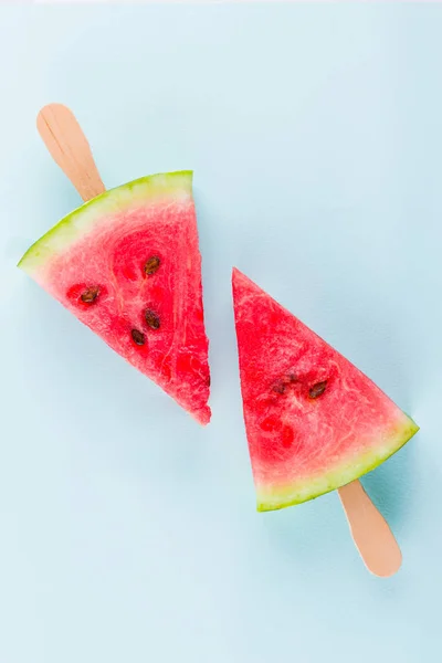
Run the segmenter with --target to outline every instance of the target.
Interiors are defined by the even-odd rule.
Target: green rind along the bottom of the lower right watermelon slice
[[[373,449],[366,454],[350,459],[346,457],[344,463],[338,464],[317,478],[309,476],[304,483],[297,482],[287,486],[273,486],[272,490],[257,485],[257,511],[277,511],[315,499],[375,470],[399,451],[419,431],[418,424],[412,419],[407,414],[404,414],[404,423],[392,432],[382,446],[379,446],[379,442],[376,441]]]

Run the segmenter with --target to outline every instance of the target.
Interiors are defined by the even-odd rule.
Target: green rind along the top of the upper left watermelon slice
[[[27,251],[18,266],[35,274],[51,257],[63,253],[109,215],[123,213],[157,200],[192,197],[191,170],[150,175],[109,189],[64,217]]]

